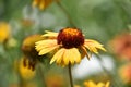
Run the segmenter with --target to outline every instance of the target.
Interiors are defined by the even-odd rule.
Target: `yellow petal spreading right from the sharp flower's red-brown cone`
[[[98,53],[97,49],[100,49],[103,51],[106,51],[105,48],[103,47],[103,45],[100,45],[99,42],[92,40],[92,39],[86,39],[84,42],[84,46],[94,53]]]

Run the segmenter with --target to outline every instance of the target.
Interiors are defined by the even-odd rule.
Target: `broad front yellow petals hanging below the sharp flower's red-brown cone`
[[[51,59],[50,63],[57,62],[57,64],[66,66],[69,63],[74,64],[74,62],[81,62],[81,54],[76,48],[66,49],[61,48]]]

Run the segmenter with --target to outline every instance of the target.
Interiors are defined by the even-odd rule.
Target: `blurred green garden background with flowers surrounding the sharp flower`
[[[29,53],[45,30],[74,26],[107,50],[72,66],[74,85],[131,87],[131,0],[44,0],[45,8],[34,1],[0,0],[0,87],[70,87],[67,67]]]

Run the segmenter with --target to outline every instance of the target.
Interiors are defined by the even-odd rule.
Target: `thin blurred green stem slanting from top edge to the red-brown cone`
[[[70,16],[69,12],[63,8],[63,5],[60,3],[60,1],[57,1],[57,4],[58,4],[58,7],[61,8],[61,10],[62,10],[62,11],[64,12],[64,14],[67,15],[70,25],[73,26],[73,27],[75,27],[73,21],[71,20],[71,16]]]

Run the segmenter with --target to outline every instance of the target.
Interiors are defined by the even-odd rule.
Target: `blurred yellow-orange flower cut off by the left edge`
[[[3,44],[10,37],[10,25],[4,22],[0,22],[0,44]]]

